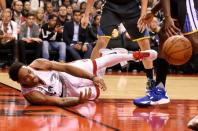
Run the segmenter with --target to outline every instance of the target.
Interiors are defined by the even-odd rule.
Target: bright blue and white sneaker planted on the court
[[[133,101],[133,103],[139,107],[161,105],[167,104],[169,102],[170,99],[168,98],[162,83],[148,89],[147,95],[145,97],[137,98]]]

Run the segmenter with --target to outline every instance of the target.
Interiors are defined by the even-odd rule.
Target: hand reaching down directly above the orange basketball
[[[177,33],[180,32],[180,29],[175,26],[174,21],[171,17],[165,18],[164,27],[165,33],[168,37],[177,35]]]

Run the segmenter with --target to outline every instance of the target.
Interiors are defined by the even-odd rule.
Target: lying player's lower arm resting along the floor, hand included
[[[75,106],[85,103],[91,97],[91,89],[85,89],[84,93],[80,92],[79,97],[56,97],[44,95],[38,91],[33,91],[25,95],[27,101],[33,105],[51,105],[51,106]]]

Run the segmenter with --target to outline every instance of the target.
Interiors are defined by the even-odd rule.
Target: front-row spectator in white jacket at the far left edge
[[[0,21],[0,49],[12,49],[12,61],[16,60],[17,23],[11,20],[12,11],[5,9]]]

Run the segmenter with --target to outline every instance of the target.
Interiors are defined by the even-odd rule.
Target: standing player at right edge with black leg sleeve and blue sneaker
[[[156,87],[154,90],[164,90],[166,77],[168,73],[168,62],[164,59],[162,51],[164,41],[173,35],[182,33],[193,47],[193,55],[198,55],[198,1],[197,0],[160,0],[153,9],[153,14],[147,15],[147,20],[150,21],[152,16],[163,7],[164,11],[164,25],[159,32],[160,46],[159,55],[156,64]],[[181,10],[182,9],[182,10]],[[179,27],[179,28],[178,28]],[[164,104],[169,102],[169,98],[164,95],[165,92],[155,93],[149,90],[148,95],[143,98],[135,99],[134,103],[138,106],[149,106],[154,104]],[[155,103],[155,98],[162,99],[160,103]]]

